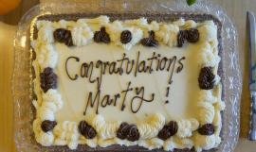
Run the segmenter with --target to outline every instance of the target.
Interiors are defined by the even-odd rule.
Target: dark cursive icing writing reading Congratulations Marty
[[[123,76],[129,75],[137,77],[140,74],[148,74],[149,76],[161,71],[169,73],[169,78],[166,82],[169,85],[166,97],[169,94],[170,85],[173,83],[174,73],[180,73],[184,68],[185,57],[178,58],[162,57],[161,54],[153,52],[148,58],[141,59],[140,52],[137,52],[137,56],[130,59],[125,53],[122,54],[120,59],[109,60],[96,60],[82,62],[79,57],[68,57],[65,60],[65,73],[70,80],[77,80],[79,78],[86,78],[89,83],[96,84],[97,88],[95,92],[89,92],[86,99],[85,110],[83,114],[89,108],[95,109],[96,113],[99,113],[99,108],[105,108],[107,106],[119,107],[119,110],[125,110],[129,107],[133,113],[137,113],[141,109],[143,104],[154,101],[155,93],[146,93],[144,86],[131,87],[132,82],[127,83],[127,89],[120,93],[110,95],[101,93],[101,82],[104,75],[108,76]],[[75,70],[72,68],[76,68]],[[134,93],[134,96],[128,93]],[[147,97],[146,97],[147,96]],[[128,101],[129,100],[129,101]],[[129,102],[129,104],[127,104]]]

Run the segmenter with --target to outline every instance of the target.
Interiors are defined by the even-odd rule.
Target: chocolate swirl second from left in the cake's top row
[[[93,40],[94,42],[104,42],[104,43],[110,42],[109,34],[106,32],[106,28],[104,26],[101,27],[100,31],[96,31],[94,33]]]

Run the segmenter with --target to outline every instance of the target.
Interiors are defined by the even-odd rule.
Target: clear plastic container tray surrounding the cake
[[[19,23],[14,41],[14,70],[12,77],[12,94],[14,102],[14,140],[18,151],[43,152],[43,151],[71,151],[67,147],[44,147],[37,144],[32,130],[34,109],[32,100],[32,72],[30,50],[30,25],[35,18],[42,15],[56,14],[82,14],[82,16],[98,16],[100,14],[112,14],[117,18],[127,16],[171,16],[171,20],[183,17],[203,21],[213,19],[219,23],[219,49],[222,61],[219,65],[219,73],[223,83],[223,100],[226,110],[223,111],[223,127],[221,132],[222,143],[218,148],[210,150],[217,152],[231,152],[234,150],[239,137],[239,113],[242,78],[240,74],[237,31],[229,20],[226,12],[209,1],[197,2],[192,7],[185,0],[45,0],[41,5],[27,11]],[[70,16],[70,15],[69,15]],[[76,15],[77,17],[79,15]],[[77,151],[149,151],[140,147],[109,146],[106,148],[89,148],[80,145]],[[153,150],[163,151],[163,150]]]

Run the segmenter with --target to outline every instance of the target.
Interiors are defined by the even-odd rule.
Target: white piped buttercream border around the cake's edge
[[[109,22],[107,16],[100,16],[95,19],[80,19],[77,22],[64,21],[37,22],[38,39],[33,42],[37,53],[39,69],[46,67],[55,68],[58,61],[58,53],[55,50],[53,31],[56,28],[67,28],[71,31],[72,41],[76,46],[88,44],[93,38],[93,32],[99,30],[100,26],[106,26],[106,31],[110,36],[111,42],[130,50],[143,37],[148,37],[148,31],[155,31],[155,39],[160,44],[168,46],[176,45],[176,36],[180,29],[197,28],[200,32],[200,48],[196,54],[198,55],[197,63],[200,66],[212,66],[216,69],[220,61],[217,54],[217,26],[212,21],[205,23],[195,23],[192,20],[185,21],[180,19],[172,24],[157,23],[155,21],[150,24],[145,18],[137,20],[126,20],[124,22]],[[123,30],[130,30],[132,33],[132,41],[127,44],[120,42],[120,33]],[[33,64],[34,65],[34,64]],[[215,76],[215,84],[220,82],[220,77]],[[37,86],[39,88],[39,86]],[[92,119],[91,125],[97,130],[97,137],[92,140],[85,139],[78,130],[77,122],[58,122],[53,131],[44,132],[41,123],[44,120],[55,120],[55,112],[62,109],[63,101],[57,90],[48,90],[42,93],[42,101],[33,101],[37,109],[37,119],[33,122],[33,130],[35,132],[36,141],[40,144],[49,145],[68,145],[70,149],[76,149],[78,144],[87,144],[90,147],[97,145],[105,147],[112,144],[120,145],[140,145],[148,149],[163,147],[164,150],[174,150],[174,148],[192,148],[194,145],[197,151],[207,150],[220,144],[219,137],[221,129],[220,111],[225,109],[224,102],[220,99],[220,93],[212,93],[212,91],[200,91],[198,95],[198,119],[181,119],[177,121],[178,131],[176,135],[167,141],[162,141],[157,137],[158,131],[165,125],[165,117],[162,114],[155,114],[148,121],[137,123],[137,129],[140,139],[136,142],[120,140],[116,137],[120,122],[106,122],[104,117],[96,115]],[[41,98],[39,96],[39,98]],[[203,136],[197,132],[193,133],[200,124],[212,123],[215,127],[215,133],[211,136]],[[189,138],[191,137],[191,138]]]

